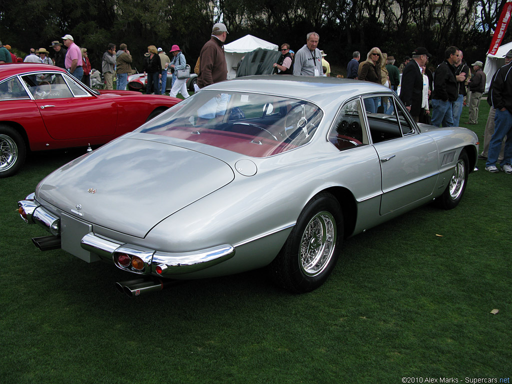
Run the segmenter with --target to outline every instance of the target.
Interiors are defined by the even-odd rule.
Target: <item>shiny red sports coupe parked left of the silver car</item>
[[[104,144],[179,101],[92,90],[46,64],[0,64],[0,178],[18,172],[27,150]]]

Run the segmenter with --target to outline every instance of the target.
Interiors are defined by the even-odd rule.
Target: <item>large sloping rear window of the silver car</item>
[[[298,99],[201,91],[136,132],[175,137],[252,157],[289,151],[311,140],[323,112]]]

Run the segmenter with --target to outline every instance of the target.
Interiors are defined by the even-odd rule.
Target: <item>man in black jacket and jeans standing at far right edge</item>
[[[492,173],[498,172],[496,162],[500,153],[501,141],[507,136],[500,168],[506,174],[512,174],[512,166],[510,166],[512,160],[512,61],[501,67],[494,75],[490,82],[487,102],[496,109],[496,115],[494,117],[495,129],[489,142],[485,170]]]

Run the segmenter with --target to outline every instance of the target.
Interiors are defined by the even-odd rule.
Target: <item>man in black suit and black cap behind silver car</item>
[[[418,47],[413,52],[413,58],[402,72],[402,87],[400,99],[411,112],[416,122],[419,120],[421,100],[423,97],[423,75],[421,67],[426,64],[432,55],[424,47]]]

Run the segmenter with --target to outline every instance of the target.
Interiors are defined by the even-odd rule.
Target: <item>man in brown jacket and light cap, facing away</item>
[[[226,26],[222,23],[215,24],[211,31],[211,38],[199,54],[200,70],[197,77],[199,89],[227,79],[227,64],[224,56],[226,37]]]

